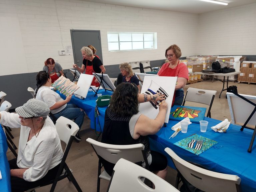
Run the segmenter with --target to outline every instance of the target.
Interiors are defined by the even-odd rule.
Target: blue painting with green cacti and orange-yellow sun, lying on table
[[[174,105],[171,108],[169,119],[181,121],[182,119],[188,117],[192,123],[199,123],[199,121],[204,120],[205,112],[205,107]]]

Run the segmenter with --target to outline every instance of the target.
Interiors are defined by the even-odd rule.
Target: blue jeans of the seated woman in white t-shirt
[[[53,114],[53,116],[58,119],[60,116],[66,117],[70,120],[75,120],[75,123],[78,125],[79,130],[82,127],[84,122],[84,111],[81,111],[74,104],[67,104],[67,106],[60,112]]]

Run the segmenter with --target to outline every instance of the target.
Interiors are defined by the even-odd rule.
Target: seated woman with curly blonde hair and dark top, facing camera
[[[132,71],[132,66],[125,62],[125,63],[121,63],[119,65],[119,69],[121,71],[121,74],[123,75],[123,80],[122,82],[124,83],[135,83],[139,89],[139,93],[140,93],[140,84],[139,84],[139,80],[138,78],[134,75],[133,71]]]

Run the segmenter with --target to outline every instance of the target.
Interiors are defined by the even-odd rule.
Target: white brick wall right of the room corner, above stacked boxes
[[[199,15],[197,54],[255,55],[256,3]]]

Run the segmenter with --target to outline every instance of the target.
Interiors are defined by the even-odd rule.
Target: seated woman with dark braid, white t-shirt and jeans
[[[47,71],[39,71],[36,76],[36,91],[35,98],[44,101],[51,111],[51,118],[58,119],[60,116],[66,117],[75,121],[81,129],[84,122],[83,109],[77,108],[74,104],[67,104],[72,95],[63,100],[58,93],[50,89],[51,77]],[[75,136],[76,141],[81,141],[78,133]]]

